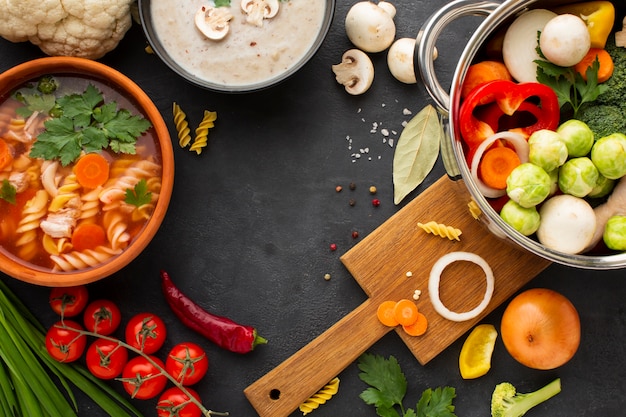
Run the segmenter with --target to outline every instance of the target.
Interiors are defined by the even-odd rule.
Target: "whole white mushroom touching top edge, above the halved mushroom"
[[[388,11],[391,10],[389,6],[393,7],[387,3],[380,7],[371,1],[361,1],[348,10],[346,34],[354,46],[365,52],[381,52],[389,48],[396,36],[396,24]]]

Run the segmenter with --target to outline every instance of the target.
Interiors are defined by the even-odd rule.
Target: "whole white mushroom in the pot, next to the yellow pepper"
[[[576,15],[558,15],[541,31],[539,46],[548,61],[561,67],[571,67],[589,52],[589,29],[585,21]]]

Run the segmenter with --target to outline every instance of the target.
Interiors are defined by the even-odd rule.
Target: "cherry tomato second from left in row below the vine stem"
[[[128,362],[128,351],[112,340],[97,339],[87,348],[85,361],[93,376],[113,379],[124,370]]]

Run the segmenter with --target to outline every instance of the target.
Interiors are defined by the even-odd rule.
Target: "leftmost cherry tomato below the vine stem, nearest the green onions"
[[[75,321],[58,321],[46,333],[46,349],[59,362],[73,362],[85,351],[87,337],[72,330],[83,330]]]

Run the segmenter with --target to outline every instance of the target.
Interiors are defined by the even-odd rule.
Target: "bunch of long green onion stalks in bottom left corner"
[[[0,280],[0,415],[78,416],[74,386],[109,416],[142,416],[84,366],[50,357],[45,335],[43,325]]]

